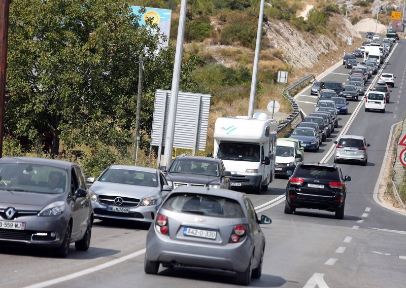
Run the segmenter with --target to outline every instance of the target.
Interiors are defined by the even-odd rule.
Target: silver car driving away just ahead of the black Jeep
[[[366,166],[368,162],[368,147],[365,137],[356,135],[343,135],[335,143],[334,163],[341,161],[359,162]]]

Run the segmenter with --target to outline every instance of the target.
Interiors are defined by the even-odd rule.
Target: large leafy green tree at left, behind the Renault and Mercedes
[[[128,144],[135,123],[139,55],[145,55],[145,67],[164,67],[145,69],[146,90],[155,91],[171,86],[174,49],[156,54],[162,41],[159,29],[152,34],[141,26],[126,2],[12,2],[7,70],[11,96],[5,124],[15,135],[48,135],[51,154],[58,152],[60,140],[67,147]],[[182,70],[189,73],[189,68]],[[153,112],[151,101],[147,98],[143,105],[144,116]]]

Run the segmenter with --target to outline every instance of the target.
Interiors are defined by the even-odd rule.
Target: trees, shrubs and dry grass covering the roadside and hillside
[[[12,2],[3,155],[75,161],[88,176],[97,176],[111,164],[134,164],[138,55],[143,51],[148,72],[137,164],[155,166],[155,147],[149,162],[155,89],[171,89],[180,0],[106,0],[85,11],[77,9],[81,3]],[[295,17],[303,8],[299,0],[267,3],[264,21],[289,22],[314,34],[333,33],[329,19],[342,13],[333,2],[321,0],[304,20]],[[172,9],[170,46],[154,55],[158,35],[139,27],[125,5]],[[117,17],[118,11],[122,17]],[[212,151],[217,117],[248,112],[258,12],[259,0],[188,1],[180,90],[212,95],[207,149],[198,155]],[[265,110],[268,101],[276,99],[281,112],[290,113],[282,88],[277,95],[278,70],[287,70],[290,82],[313,73],[296,70],[283,52],[262,37],[255,109]],[[219,55],[229,62],[216,60]],[[321,57],[323,61],[328,67],[329,55]],[[190,153],[179,149],[178,154],[183,152]]]

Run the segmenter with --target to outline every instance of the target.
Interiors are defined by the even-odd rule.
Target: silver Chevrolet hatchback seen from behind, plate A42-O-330
[[[265,237],[245,193],[201,187],[178,187],[164,200],[147,234],[144,270],[159,264],[236,272],[238,284],[261,276]]]

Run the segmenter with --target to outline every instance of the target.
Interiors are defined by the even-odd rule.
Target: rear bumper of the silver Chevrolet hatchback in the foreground
[[[207,244],[171,239],[151,227],[147,236],[146,259],[160,263],[173,263],[243,272],[252,256],[250,237],[239,243]]]

